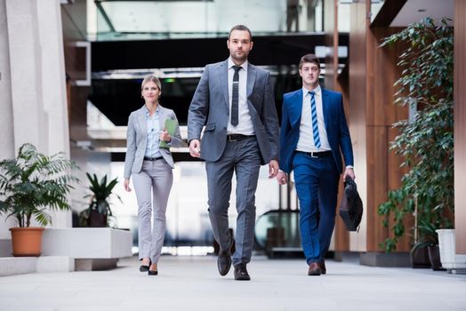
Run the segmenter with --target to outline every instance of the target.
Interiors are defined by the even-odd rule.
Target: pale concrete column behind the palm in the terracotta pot
[[[46,155],[69,155],[59,0],[0,0],[0,72],[1,158],[25,142]],[[52,227],[70,227],[71,212],[52,220]],[[0,238],[9,236],[3,222]]]

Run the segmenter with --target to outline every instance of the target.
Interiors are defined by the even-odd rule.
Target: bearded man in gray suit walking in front
[[[220,245],[219,272],[228,274],[233,252],[235,280],[250,280],[246,264],[253,253],[260,167],[269,163],[269,178],[278,172],[277,110],[269,72],[247,61],[253,49],[249,28],[231,28],[227,46],[229,59],[205,66],[191,101],[189,153],[205,160],[209,217]],[[237,175],[236,243],[228,220],[233,171]]]

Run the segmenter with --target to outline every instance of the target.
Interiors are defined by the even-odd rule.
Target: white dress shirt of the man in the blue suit
[[[314,99],[316,100],[317,108],[317,127],[318,136],[320,138],[320,148],[314,144],[314,134],[312,132],[312,116],[310,114],[310,91],[314,91]],[[301,110],[301,124],[300,124],[300,139],[296,150],[303,152],[322,152],[332,150],[327,139],[327,132],[325,131],[324,108],[322,106],[322,89],[320,85],[314,90],[307,90],[302,87],[302,110]]]

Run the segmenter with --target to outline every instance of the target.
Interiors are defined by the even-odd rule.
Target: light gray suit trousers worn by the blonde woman
[[[138,200],[139,258],[160,258],[166,228],[166,203],[173,184],[173,172],[165,160],[144,161],[139,173],[133,173],[133,186]],[[154,214],[152,226],[150,218]]]

